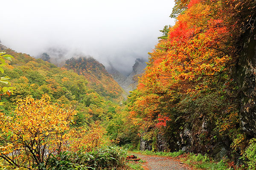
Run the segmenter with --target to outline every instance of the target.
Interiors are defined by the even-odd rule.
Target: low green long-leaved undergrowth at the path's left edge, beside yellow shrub
[[[119,147],[103,147],[91,152],[63,152],[52,156],[49,170],[112,170],[124,166],[126,151]]]

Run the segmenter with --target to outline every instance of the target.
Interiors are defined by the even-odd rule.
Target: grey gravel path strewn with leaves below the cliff
[[[142,155],[140,153],[132,154],[146,161],[145,164],[143,164],[143,168],[145,170],[191,170],[185,167],[184,164],[180,164],[178,161],[175,161],[171,157],[148,156]]]

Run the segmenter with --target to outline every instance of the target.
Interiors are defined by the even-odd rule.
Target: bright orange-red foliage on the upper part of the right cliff
[[[130,99],[131,117],[142,117],[144,127],[165,126],[172,121],[162,105],[177,94],[196,94],[210,89],[215,77],[226,74],[235,58],[232,52],[236,22],[224,1],[179,1],[187,6],[169,29],[168,38],[160,40],[149,53],[149,64],[141,77],[136,94]],[[165,99],[166,100],[166,99]],[[171,106],[169,106],[171,107]],[[136,114],[135,114],[135,113]]]

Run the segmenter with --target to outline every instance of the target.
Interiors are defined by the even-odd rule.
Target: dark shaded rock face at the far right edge
[[[240,119],[242,129],[256,136],[256,29],[247,31],[236,68],[236,80],[240,90]]]

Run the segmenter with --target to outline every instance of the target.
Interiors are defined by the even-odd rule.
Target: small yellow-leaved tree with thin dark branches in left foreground
[[[0,113],[0,158],[9,165],[43,170],[51,154],[67,146],[67,131],[76,114],[51,103],[48,95],[19,99],[12,116]]]

